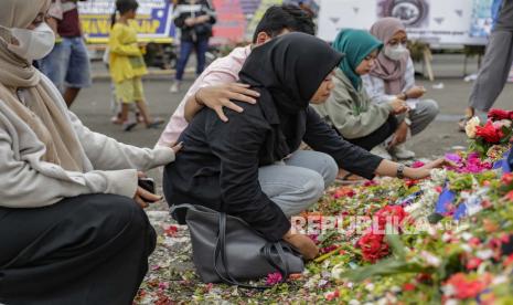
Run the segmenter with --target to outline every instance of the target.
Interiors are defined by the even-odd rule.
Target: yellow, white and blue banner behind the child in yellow
[[[133,24],[142,42],[171,42],[174,36],[172,4],[169,0],[138,0],[139,9]],[[114,0],[78,2],[81,23],[88,43],[107,43]]]

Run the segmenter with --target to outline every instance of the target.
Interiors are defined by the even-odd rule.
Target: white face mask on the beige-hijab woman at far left
[[[55,34],[45,22],[33,30],[12,28],[8,31],[19,42],[15,45],[12,44],[12,39],[8,41],[9,51],[29,62],[43,59],[55,45]]]

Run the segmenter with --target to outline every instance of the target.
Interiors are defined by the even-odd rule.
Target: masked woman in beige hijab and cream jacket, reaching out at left
[[[138,170],[174,150],[117,143],[67,111],[32,65],[55,39],[50,2],[0,10],[0,303],[131,304],[156,242],[141,207],[160,199]]]

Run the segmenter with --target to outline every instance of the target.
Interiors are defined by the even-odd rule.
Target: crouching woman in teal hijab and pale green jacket
[[[398,98],[372,103],[361,78],[371,72],[383,43],[366,31],[345,29],[338,34],[333,48],[345,56],[335,69],[331,96],[327,103],[316,105],[316,111],[344,139],[391,159],[381,144],[397,129],[396,115],[404,114],[408,107]]]

